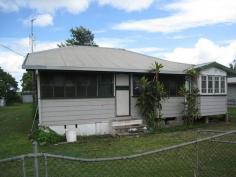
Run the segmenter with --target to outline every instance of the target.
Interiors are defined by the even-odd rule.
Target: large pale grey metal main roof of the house
[[[157,61],[161,73],[183,74],[193,65],[171,62],[124,49],[70,46],[27,55],[23,69],[148,72]]]

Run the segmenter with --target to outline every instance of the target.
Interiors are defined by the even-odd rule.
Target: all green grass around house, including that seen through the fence
[[[39,147],[40,152],[75,157],[113,157],[150,151],[162,147],[196,139],[196,129],[236,129],[236,108],[230,108],[231,122],[217,122],[209,125],[197,124],[187,128],[178,126],[161,129],[155,134],[138,137],[114,138],[111,136],[79,137],[73,144],[49,145]],[[0,159],[32,152],[32,143],[28,133],[32,124],[32,106],[30,104],[0,108]],[[209,134],[207,134],[209,135]],[[235,138],[235,137],[234,137]],[[235,141],[235,140],[234,140]],[[236,174],[236,152],[234,146],[226,147],[219,143],[201,143],[199,159],[200,176],[232,177]],[[194,145],[179,150],[154,154],[123,161],[82,163],[78,161],[48,159],[50,177],[85,176],[193,176],[196,147]],[[226,150],[227,148],[227,150]],[[230,158],[230,159],[227,159]],[[234,160],[233,160],[234,159]],[[222,164],[222,162],[225,162]],[[33,176],[32,159],[26,160],[27,176]],[[44,173],[44,161],[40,159],[41,174]],[[20,176],[21,162],[0,164],[1,173],[8,176]],[[223,170],[222,170],[223,169]],[[122,173],[121,173],[122,172]],[[4,176],[3,175],[3,176]]]

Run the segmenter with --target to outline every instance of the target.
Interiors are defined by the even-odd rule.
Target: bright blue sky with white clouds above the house
[[[32,18],[35,51],[56,48],[84,26],[100,47],[228,66],[236,59],[235,9],[236,0],[0,0],[0,67],[20,82]]]

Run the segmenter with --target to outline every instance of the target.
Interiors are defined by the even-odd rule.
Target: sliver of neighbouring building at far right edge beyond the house
[[[236,106],[236,77],[228,78],[228,105]]]

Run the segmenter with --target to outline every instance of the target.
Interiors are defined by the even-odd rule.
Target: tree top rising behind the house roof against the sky
[[[64,43],[58,44],[58,47],[83,45],[83,46],[98,46],[94,42],[94,34],[83,26],[70,29],[71,38],[67,39]]]

